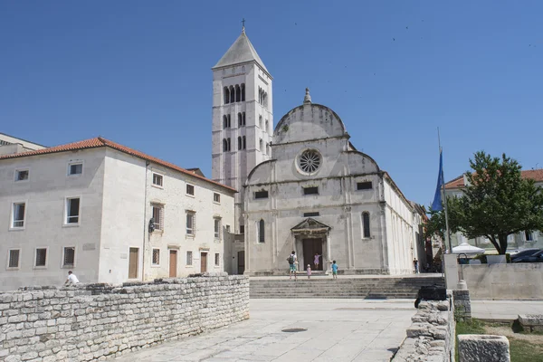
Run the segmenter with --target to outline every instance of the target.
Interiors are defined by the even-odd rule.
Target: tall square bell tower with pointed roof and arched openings
[[[245,33],[212,68],[212,178],[238,190],[234,233],[244,233],[243,185],[271,158],[272,77]]]

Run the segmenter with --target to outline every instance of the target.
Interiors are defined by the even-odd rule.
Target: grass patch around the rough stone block
[[[519,329],[518,323],[510,325],[488,323],[479,319],[472,319],[472,322],[457,322],[456,336],[459,334],[499,334],[492,332],[492,328],[500,327],[504,335],[510,341],[511,362],[543,362],[543,337],[539,333],[525,333]],[[516,335],[516,336],[515,336]],[[531,336],[527,340],[527,336]],[[456,339],[456,360],[458,361],[458,338]]]

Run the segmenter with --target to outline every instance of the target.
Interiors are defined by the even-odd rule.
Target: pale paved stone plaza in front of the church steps
[[[250,310],[251,319],[229,328],[116,361],[388,362],[416,311],[413,300],[251,300]]]

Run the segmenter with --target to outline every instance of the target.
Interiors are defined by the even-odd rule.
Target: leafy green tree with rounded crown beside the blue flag
[[[458,230],[470,239],[486,237],[500,254],[507,252],[511,233],[543,230],[542,189],[522,178],[516,160],[481,151],[470,159],[470,167],[468,185],[450,207]]]

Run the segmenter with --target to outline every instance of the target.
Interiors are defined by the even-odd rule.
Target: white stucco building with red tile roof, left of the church
[[[0,288],[224,271],[235,190],[105,138],[0,156]]]

